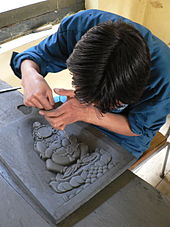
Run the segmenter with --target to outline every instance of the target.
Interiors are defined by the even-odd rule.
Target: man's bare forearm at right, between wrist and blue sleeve
[[[132,132],[128,119],[124,115],[114,113],[106,113],[101,115],[94,108],[94,110],[92,110],[92,114],[89,114],[89,116],[90,117],[87,120],[88,123],[101,126],[118,134],[126,136],[138,136]]]

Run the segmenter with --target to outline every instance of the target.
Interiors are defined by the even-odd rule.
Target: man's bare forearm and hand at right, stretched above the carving
[[[128,119],[125,116],[112,113],[101,114],[93,105],[81,104],[74,98],[73,91],[57,89],[55,92],[59,95],[68,96],[68,101],[55,110],[40,111],[40,114],[44,115],[54,128],[63,130],[68,124],[84,121],[122,135],[137,136],[131,131]]]

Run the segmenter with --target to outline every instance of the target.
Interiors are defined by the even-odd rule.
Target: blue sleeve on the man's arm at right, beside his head
[[[129,123],[134,133],[152,136],[170,113],[170,48],[152,36],[151,77],[141,101],[129,111]]]

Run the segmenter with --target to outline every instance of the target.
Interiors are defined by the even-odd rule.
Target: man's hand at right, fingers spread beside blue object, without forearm
[[[53,128],[64,130],[66,125],[77,122],[89,122],[95,108],[92,105],[81,104],[75,97],[73,90],[54,89],[59,95],[65,95],[68,100],[60,107],[50,111],[40,111]],[[96,115],[96,113],[95,113]]]

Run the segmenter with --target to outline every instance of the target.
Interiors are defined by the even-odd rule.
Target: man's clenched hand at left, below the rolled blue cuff
[[[34,68],[22,70],[24,104],[39,109],[51,110],[54,107],[52,90],[46,80]]]

